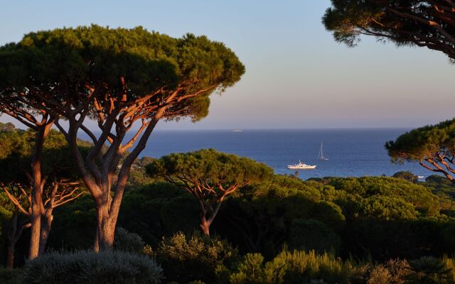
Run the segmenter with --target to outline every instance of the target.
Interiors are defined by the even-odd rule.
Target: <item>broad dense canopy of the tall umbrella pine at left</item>
[[[142,27],[58,28],[28,33],[20,42],[0,48],[0,97],[24,108],[62,111],[56,107],[80,106],[80,100],[90,94],[87,85],[101,85],[97,99],[104,106],[105,94],[123,94],[122,77],[128,86],[127,102],[183,85],[181,98],[206,90],[168,109],[169,119],[200,119],[208,114],[208,95],[214,89],[230,87],[244,72],[230,49],[205,36],[188,33],[171,38]],[[31,89],[35,92],[29,92]],[[22,92],[26,101],[15,101]],[[38,102],[43,100],[45,104],[40,106]]]

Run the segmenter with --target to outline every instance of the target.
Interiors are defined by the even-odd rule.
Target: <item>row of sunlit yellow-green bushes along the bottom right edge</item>
[[[423,257],[386,263],[341,261],[329,253],[282,251],[264,263],[259,253],[248,253],[230,275],[231,284],[453,284],[454,260]]]

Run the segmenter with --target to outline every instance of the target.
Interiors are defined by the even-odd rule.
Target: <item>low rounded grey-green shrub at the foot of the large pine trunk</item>
[[[53,252],[27,261],[21,283],[156,284],[161,268],[147,256],[122,251]]]

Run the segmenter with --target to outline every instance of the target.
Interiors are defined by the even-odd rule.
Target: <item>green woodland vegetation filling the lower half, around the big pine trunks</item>
[[[0,140],[4,149],[11,138],[18,139],[0,165],[8,163],[11,175],[21,175],[18,156],[31,155],[33,133],[13,129],[0,134],[9,137]],[[65,171],[63,153],[69,153],[65,138],[57,131],[48,137],[43,172],[57,170],[57,179],[77,181],[77,175]],[[80,141],[81,151],[87,145]],[[28,152],[21,152],[27,146]],[[217,167],[220,161],[225,169]],[[141,166],[144,163],[146,167]],[[455,281],[455,185],[443,175],[429,176],[425,182],[406,172],[395,174],[396,178],[302,181],[294,175],[273,175],[266,165],[214,150],[141,158],[135,165],[119,212],[114,251],[97,255],[90,252],[97,212],[83,186],[70,192],[71,202],[53,209],[48,253],[36,261],[25,261],[28,229],[11,242],[12,224],[25,224],[29,217],[11,202],[14,185],[4,188],[1,263],[8,263],[11,244],[16,257],[15,268],[1,271],[1,277],[11,283],[60,283],[68,278],[71,283],[87,279],[92,279],[90,283],[106,279],[112,280],[109,283]],[[235,184],[238,187],[225,194]],[[31,190],[16,186],[23,187],[20,192]],[[44,189],[43,196],[52,198],[47,186]],[[16,200],[29,212],[29,197],[23,197]],[[216,218],[214,212],[203,212],[210,207],[216,208]],[[213,217],[210,234],[201,226],[206,214]],[[75,268],[71,263],[78,259],[85,264]],[[96,267],[106,275],[97,275]]]

